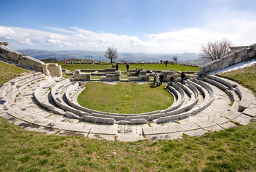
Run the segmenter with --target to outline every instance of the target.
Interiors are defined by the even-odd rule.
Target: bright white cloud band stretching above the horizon
[[[207,23],[201,27],[184,28],[158,34],[144,33],[138,36],[92,32],[79,27],[72,31],[47,27],[56,32],[0,26],[0,39],[10,42],[9,47],[18,49],[83,49],[105,51],[108,46],[118,52],[148,53],[198,53],[202,45],[227,37],[234,46],[255,44],[256,12],[237,12],[227,9],[205,14]],[[128,20],[126,22],[129,22]],[[59,32],[62,32],[60,34]]]

